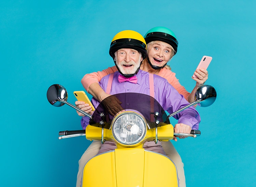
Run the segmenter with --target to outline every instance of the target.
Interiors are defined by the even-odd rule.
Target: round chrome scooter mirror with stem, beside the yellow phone
[[[47,99],[51,105],[60,107],[60,106],[63,106],[64,104],[67,104],[67,105],[71,106],[72,108],[76,109],[77,111],[81,112],[85,116],[88,116],[89,118],[91,118],[91,115],[87,114],[86,112],[82,111],[80,108],[77,108],[76,106],[67,102],[68,92],[60,84],[53,84],[52,86],[50,86],[47,90],[46,95],[47,95]]]

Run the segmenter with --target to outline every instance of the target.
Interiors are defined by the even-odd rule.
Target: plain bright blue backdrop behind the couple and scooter
[[[114,64],[108,50],[117,32],[144,35],[156,26],[176,34],[169,64],[188,91],[201,57],[213,57],[207,84],[217,99],[197,107],[202,135],[173,142],[187,186],[256,186],[255,7],[238,0],[2,1],[1,186],[75,186],[90,142],[58,140],[59,131],[81,129],[80,117],[51,106],[48,87],[65,86],[74,103],[84,74]]]

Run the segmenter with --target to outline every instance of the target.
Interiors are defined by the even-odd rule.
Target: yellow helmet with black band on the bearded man
[[[122,48],[135,49],[141,52],[143,59],[147,57],[146,41],[143,36],[136,31],[125,30],[117,33],[110,45],[110,56],[114,59],[115,52]]]

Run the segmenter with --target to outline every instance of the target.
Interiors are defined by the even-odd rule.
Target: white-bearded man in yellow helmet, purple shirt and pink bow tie
[[[140,70],[142,60],[147,56],[146,43],[139,33],[135,31],[122,31],[115,35],[110,46],[110,55],[113,57],[118,71],[106,75],[100,81],[100,86],[107,94],[118,94],[124,92],[136,92],[153,96],[169,113],[172,113],[188,102],[181,96],[166,79],[155,74]],[[99,105],[99,101],[92,99],[95,107]],[[76,102],[77,107],[83,111],[90,113],[91,109],[87,104]],[[115,106],[118,107],[118,104]],[[80,113],[81,115],[81,113]],[[190,133],[191,129],[198,129],[200,117],[194,107],[175,115],[179,119],[175,125],[179,132]],[[81,119],[83,129],[88,125],[88,117]],[[94,144],[94,145],[93,145]],[[79,173],[77,175],[77,185],[80,184],[82,170],[85,163],[95,155],[90,152],[98,151],[99,142],[93,142],[87,149],[79,161]],[[161,142],[156,145],[155,142],[146,142],[145,149],[150,149],[165,155],[165,151],[161,146]],[[113,142],[105,142],[101,145],[98,153],[115,149]],[[90,155],[90,156],[89,156]]]

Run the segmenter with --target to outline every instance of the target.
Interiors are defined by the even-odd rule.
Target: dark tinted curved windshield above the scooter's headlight
[[[157,120],[158,126],[167,125],[167,115],[162,106],[153,97],[139,93],[121,93],[105,98],[96,108],[90,119],[89,124],[100,128],[110,129],[113,117],[121,111],[138,111],[147,121],[149,129],[155,128],[156,112],[159,113]]]

